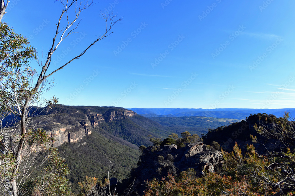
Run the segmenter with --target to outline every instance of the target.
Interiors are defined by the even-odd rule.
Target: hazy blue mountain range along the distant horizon
[[[289,112],[290,116],[295,114],[295,108],[282,109],[249,109],[249,108],[130,108],[145,117],[183,117],[183,116],[205,116],[214,118],[232,118],[243,120],[250,114],[267,113],[276,117],[283,117],[285,112]]]

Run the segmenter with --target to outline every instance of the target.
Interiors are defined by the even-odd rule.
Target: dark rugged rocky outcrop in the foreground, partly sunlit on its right
[[[216,172],[223,163],[223,157],[219,150],[208,150],[202,142],[186,143],[186,146],[178,149],[176,145],[164,145],[159,149],[150,146],[143,150],[140,156],[139,167],[133,171],[136,178],[136,189],[142,192],[145,189],[145,181],[153,178],[162,178],[168,173],[179,174],[189,168],[193,168],[198,177],[205,172]]]

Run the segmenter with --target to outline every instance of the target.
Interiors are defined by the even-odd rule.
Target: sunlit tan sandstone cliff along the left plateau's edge
[[[117,119],[133,116],[136,113],[130,110],[108,110],[105,113],[92,113],[87,110],[86,113],[77,111],[71,114],[55,114],[46,120],[45,130],[55,139],[54,146],[57,147],[63,143],[73,143],[92,133],[102,121],[111,122]]]

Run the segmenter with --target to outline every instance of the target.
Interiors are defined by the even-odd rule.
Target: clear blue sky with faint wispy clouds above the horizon
[[[54,74],[56,86],[47,98],[124,108],[295,108],[295,1],[94,2],[81,14],[80,33],[56,51],[60,62],[51,70],[103,32],[100,10],[113,5],[109,9],[124,21]],[[51,46],[62,5],[53,0],[9,4],[3,20],[31,36],[41,58]],[[71,51],[60,60],[67,47]]]

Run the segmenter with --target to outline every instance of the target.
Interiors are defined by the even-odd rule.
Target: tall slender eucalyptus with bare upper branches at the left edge
[[[0,92],[0,109],[3,112],[3,117],[7,115],[13,115],[19,119],[19,126],[12,130],[10,136],[14,137],[14,142],[8,141],[2,132],[1,145],[4,147],[5,156],[9,158],[9,175],[1,176],[1,180],[9,179],[8,182],[3,181],[2,184],[8,185],[8,189],[12,195],[17,196],[19,189],[21,189],[24,180],[27,176],[20,177],[20,171],[23,167],[25,156],[28,156],[28,149],[32,149],[38,145],[45,145],[49,142],[48,137],[43,135],[42,140],[37,138],[42,135],[42,132],[36,132],[29,126],[30,119],[34,113],[32,111],[33,105],[52,105],[58,102],[53,97],[50,100],[42,101],[42,94],[53,87],[53,83],[50,80],[55,72],[63,69],[72,61],[83,56],[86,51],[91,48],[96,42],[106,38],[113,33],[112,27],[122,18],[116,17],[113,13],[101,13],[101,17],[105,21],[104,31],[101,35],[94,38],[87,47],[81,50],[75,57],[68,59],[68,61],[60,67],[49,71],[52,64],[52,59],[60,44],[64,39],[76,33],[81,20],[80,14],[85,9],[91,7],[93,2],[86,2],[78,0],[58,0],[63,6],[58,21],[56,23],[56,29],[53,36],[52,45],[47,55],[41,61],[37,61],[40,70],[32,69],[30,67],[30,60],[37,60],[37,53],[35,48],[28,46],[28,39],[22,37],[20,34],[14,33],[7,24],[1,24],[1,40],[0,40],[0,75],[1,75],[1,92]],[[1,2],[1,13],[5,13],[4,1]],[[3,14],[1,15],[3,16]],[[62,21],[65,21],[63,24]],[[47,107],[48,108],[48,107]],[[17,129],[19,127],[19,129]],[[40,131],[40,130],[39,130]],[[35,134],[39,133],[39,135]],[[39,137],[40,139],[40,137]],[[10,142],[10,148],[6,145]],[[7,150],[6,150],[7,149]],[[6,151],[5,151],[6,150]],[[3,154],[4,154],[3,153]],[[4,171],[3,168],[0,168]],[[6,172],[6,171],[4,171]],[[1,171],[2,174],[2,171]],[[4,174],[4,173],[3,173]],[[6,178],[8,177],[8,178]]]

